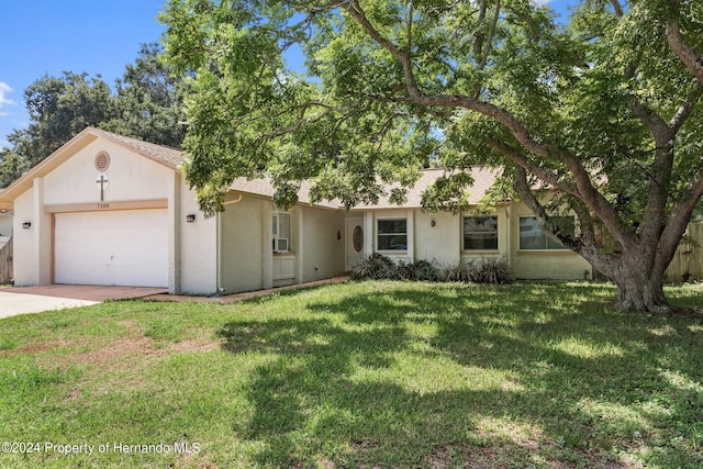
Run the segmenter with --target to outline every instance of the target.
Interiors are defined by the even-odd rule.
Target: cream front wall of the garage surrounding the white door
[[[208,253],[208,236],[201,233],[205,238],[205,247],[192,248],[190,247],[193,243],[192,236],[189,237],[187,234],[186,242],[190,242],[191,245],[179,249],[180,234],[185,224],[181,205],[185,210],[190,210],[194,206],[194,202],[193,194],[182,185],[178,172],[104,138],[98,138],[81,147],[49,174],[35,178],[32,181],[32,189],[15,199],[15,283],[47,284],[53,280],[53,215],[45,205],[51,205],[51,211],[57,213],[65,204],[91,204],[85,210],[111,210],[110,206],[100,206],[100,187],[96,182],[99,172],[93,164],[99,152],[107,152],[110,155],[110,167],[104,171],[109,185],[104,189],[103,203],[166,199],[169,219],[169,259],[167,266],[169,291],[178,292],[181,290],[181,286],[185,287],[183,291],[201,292],[203,286],[208,288],[205,291],[214,291],[214,281],[212,280],[214,273],[207,276],[199,267],[214,259],[214,255]],[[138,208],[140,203],[137,202],[135,208]],[[94,204],[94,209],[91,208],[92,204]],[[198,213],[202,221],[202,214]],[[32,223],[32,227],[23,230],[22,223],[26,221]],[[205,226],[207,223],[199,224],[200,231],[207,232]],[[210,227],[210,231],[215,233],[213,227]],[[193,250],[199,252],[198,258],[196,261],[191,261],[187,255],[183,266],[181,263],[182,252]],[[181,281],[183,271],[186,278]]]

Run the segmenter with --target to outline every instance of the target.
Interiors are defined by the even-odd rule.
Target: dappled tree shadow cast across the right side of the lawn
[[[611,468],[644,451],[657,467],[703,464],[703,333],[685,317],[612,312],[585,284],[362,290],[221,331],[227,350],[271,356],[235,427],[265,443],[256,462]],[[436,372],[436,390],[405,373],[408,357],[436,365],[412,371]],[[440,384],[442,360],[514,382]]]

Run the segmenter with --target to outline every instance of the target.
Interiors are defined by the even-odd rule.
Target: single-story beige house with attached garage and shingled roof
[[[266,180],[238,179],[224,212],[204,217],[183,181],[181,152],[88,127],[0,193],[13,210],[14,282],[168,288],[235,293],[350,270],[381,253],[450,265],[507,256],[524,279],[583,279],[591,266],[545,236],[526,206],[477,216],[426,213],[426,170],[403,206],[387,200],[346,211],[334,202],[279,211]],[[495,175],[475,168],[472,202]]]

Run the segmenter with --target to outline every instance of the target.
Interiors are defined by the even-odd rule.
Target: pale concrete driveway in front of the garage
[[[129,300],[168,292],[165,288],[49,284],[0,289],[0,319],[24,313],[89,306],[105,300]]]

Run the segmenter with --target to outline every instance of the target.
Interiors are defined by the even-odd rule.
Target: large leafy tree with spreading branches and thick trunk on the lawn
[[[663,271],[703,193],[703,2],[582,0],[566,26],[536,4],[171,0],[167,54],[198,74],[185,147],[201,206],[264,172],[280,204],[313,178],[354,205],[439,161],[438,209],[462,200],[461,169],[502,167],[621,308],[669,311]]]

